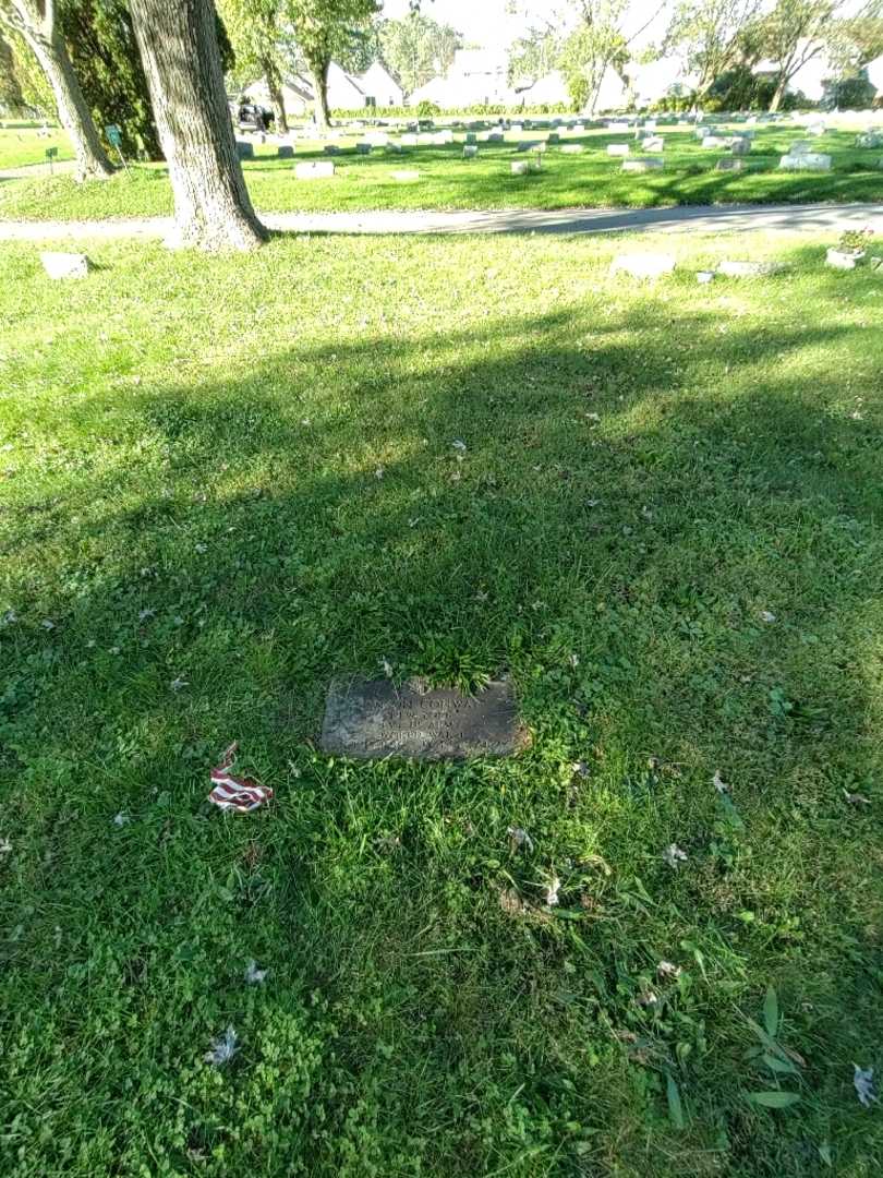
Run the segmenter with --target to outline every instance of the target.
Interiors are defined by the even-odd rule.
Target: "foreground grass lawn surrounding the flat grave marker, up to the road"
[[[881,1172],[883,279],[825,244],[0,250],[4,1174]],[[509,668],[532,747],[321,755],[383,660]]]

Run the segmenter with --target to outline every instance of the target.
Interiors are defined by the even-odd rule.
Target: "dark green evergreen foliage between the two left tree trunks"
[[[62,5],[59,19],[80,88],[99,132],[117,124],[126,155],[161,159],[147,79],[126,0],[81,0]]]

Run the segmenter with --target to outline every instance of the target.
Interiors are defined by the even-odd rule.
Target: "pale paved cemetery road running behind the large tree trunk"
[[[883,231],[883,203],[852,205],[676,205],[670,209],[537,209],[470,212],[261,213],[287,233],[612,233],[623,230],[726,232],[830,231],[870,225]],[[168,217],[100,221],[0,220],[0,240],[165,238]]]

